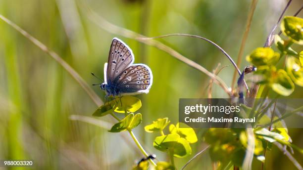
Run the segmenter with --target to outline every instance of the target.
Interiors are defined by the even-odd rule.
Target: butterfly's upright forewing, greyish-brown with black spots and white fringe
[[[112,84],[128,66],[134,63],[134,54],[128,45],[118,38],[113,38],[108,54],[108,63],[104,65],[106,84]],[[106,70],[106,76],[105,76]]]

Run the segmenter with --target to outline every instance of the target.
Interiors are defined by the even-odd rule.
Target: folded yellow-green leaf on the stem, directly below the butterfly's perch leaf
[[[124,119],[120,122],[116,123],[111,127],[109,132],[120,132],[126,129],[132,129],[137,127],[142,122],[142,115],[138,113],[134,116],[133,113],[127,115]]]

